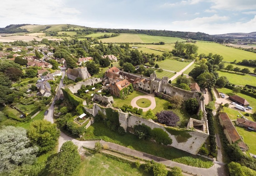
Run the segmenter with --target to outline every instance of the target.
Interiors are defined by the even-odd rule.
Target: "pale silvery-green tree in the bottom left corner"
[[[0,174],[36,161],[37,147],[31,147],[24,128],[2,127],[0,139]]]

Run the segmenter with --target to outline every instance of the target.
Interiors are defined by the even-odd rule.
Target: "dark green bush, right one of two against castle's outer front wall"
[[[161,128],[154,128],[151,130],[151,136],[154,137],[157,143],[161,144],[163,143],[164,145],[172,144],[172,139],[169,137],[167,132],[165,132]]]

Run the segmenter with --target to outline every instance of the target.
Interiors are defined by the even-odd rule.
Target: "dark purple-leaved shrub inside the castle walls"
[[[156,113],[156,116],[159,123],[166,124],[168,126],[174,127],[180,122],[180,117],[170,110],[163,110],[160,113]]]

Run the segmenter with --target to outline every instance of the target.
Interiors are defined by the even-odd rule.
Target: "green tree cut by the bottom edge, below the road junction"
[[[48,163],[52,175],[72,176],[81,162],[77,146],[72,141],[64,142],[57,156]]]

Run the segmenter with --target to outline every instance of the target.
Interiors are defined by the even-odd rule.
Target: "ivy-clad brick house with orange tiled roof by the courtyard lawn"
[[[116,96],[122,98],[123,95],[126,95],[128,91],[132,88],[132,84],[129,83],[126,79],[116,79],[112,81],[109,85],[109,92]]]

